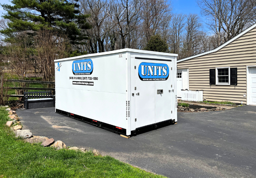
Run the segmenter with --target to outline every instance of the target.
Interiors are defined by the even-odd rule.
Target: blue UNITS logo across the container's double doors
[[[169,67],[162,63],[140,63],[139,77],[142,81],[167,80]]]

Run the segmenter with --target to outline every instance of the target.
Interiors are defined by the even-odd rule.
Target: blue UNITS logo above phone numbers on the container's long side
[[[82,59],[72,63],[74,75],[91,75],[93,70],[92,59]]]

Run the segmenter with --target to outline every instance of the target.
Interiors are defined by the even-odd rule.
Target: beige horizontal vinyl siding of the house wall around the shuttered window
[[[177,63],[178,69],[189,69],[189,90],[204,90],[203,95],[209,101],[243,101],[243,104],[246,104],[246,66],[249,65],[256,65],[256,28],[217,52]],[[217,67],[237,68],[237,86],[210,86],[209,70]]]

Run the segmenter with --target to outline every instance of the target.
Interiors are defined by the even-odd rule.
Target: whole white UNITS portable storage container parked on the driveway
[[[127,136],[173,124],[177,56],[126,48],[55,60],[56,112]]]

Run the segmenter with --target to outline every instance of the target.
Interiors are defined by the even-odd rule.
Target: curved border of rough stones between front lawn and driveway
[[[8,107],[8,106],[4,106],[4,107]],[[76,146],[67,148],[67,145],[65,143],[63,143],[62,141],[58,140],[58,141],[54,141],[53,138],[48,138],[48,137],[43,137],[43,136],[34,136],[32,135],[32,133],[30,132],[30,130],[22,130],[22,125],[20,120],[20,117],[18,117],[17,113],[15,111],[12,111],[11,108],[7,108],[5,109],[8,112],[8,117],[10,118],[10,121],[6,122],[6,125],[8,127],[11,128],[11,130],[13,130],[13,132],[15,133],[15,137],[22,137],[24,139],[25,142],[28,142],[30,144],[34,144],[34,143],[41,143],[42,146],[47,147],[47,146],[51,146],[53,148],[55,148],[56,150],[60,150],[60,149],[68,149],[68,150],[76,150],[76,151],[81,151],[81,152],[87,152],[87,150],[85,148],[78,148]],[[14,125],[14,126],[12,126]],[[101,156],[100,152],[98,150],[93,150],[92,151],[94,156]]]

